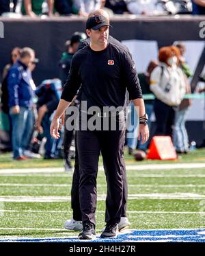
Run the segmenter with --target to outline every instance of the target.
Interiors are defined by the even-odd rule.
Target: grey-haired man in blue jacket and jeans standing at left
[[[25,160],[23,146],[31,136],[32,127],[27,126],[29,110],[33,107],[33,88],[29,65],[35,60],[35,52],[29,47],[20,50],[20,58],[8,73],[8,95],[12,119],[12,149],[16,160]]]

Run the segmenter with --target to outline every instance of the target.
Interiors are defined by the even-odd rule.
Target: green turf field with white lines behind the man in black
[[[142,164],[159,163],[143,161]],[[161,162],[170,163],[170,162]],[[196,150],[173,163],[205,163],[205,150]],[[131,229],[205,228],[205,167],[167,170],[137,170],[137,162],[126,156],[128,170],[128,219]],[[101,162],[100,162],[101,165]],[[61,167],[62,161],[16,163],[1,154],[0,169]],[[71,216],[72,173],[0,174],[0,237],[68,237],[64,221]],[[104,226],[105,174],[98,172],[97,226]]]

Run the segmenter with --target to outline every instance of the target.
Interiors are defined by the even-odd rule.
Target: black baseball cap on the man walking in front
[[[86,21],[86,29],[87,30],[99,30],[100,27],[103,26],[109,26],[109,21],[105,16],[102,15],[96,15],[96,16],[91,16],[90,18],[87,19]]]

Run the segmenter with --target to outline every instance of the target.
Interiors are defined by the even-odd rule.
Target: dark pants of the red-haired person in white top
[[[174,108],[161,102],[161,100],[155,99],[154,114],[156,117],[156,130],[154,135],[168,135],[172,137],[175,117]]]

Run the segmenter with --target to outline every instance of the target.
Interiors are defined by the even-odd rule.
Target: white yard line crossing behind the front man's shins
[[[205,195],[193,193],[174,193],[174,194],[129,194],[128,200],[141,198],[150,199],[204,199]],[[106,195],[98,195],[98,200],[105,200]],[[70,196],[0,196],[0,202],[64,202],[70,201]]]

